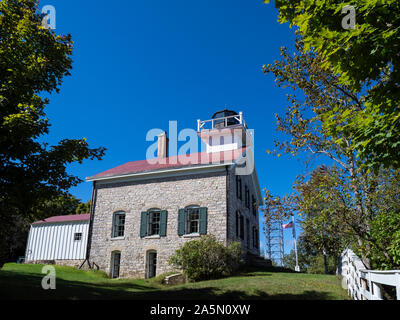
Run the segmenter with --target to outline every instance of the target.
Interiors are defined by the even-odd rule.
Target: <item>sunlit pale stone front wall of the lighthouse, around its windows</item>
[[[90,261],[110,274],[113,251],[121,252],[120,277],[145,277],[148,250],[157,251],[157,275],[172,271],[168,259],[185,241],[178,236],[178,209],[189,205],[208,208],[207,233],[227,241],[226,171],[142,181],[97,183]],[[142,211],[159,208],[168,211],[167,235],[140,237]],[[112,219],[125,211],[125,236],[113,239]]]

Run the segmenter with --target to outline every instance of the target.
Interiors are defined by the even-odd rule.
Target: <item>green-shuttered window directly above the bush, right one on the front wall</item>
[[[207,233],[207,208],[189,206],[178,210],[178,235]]]

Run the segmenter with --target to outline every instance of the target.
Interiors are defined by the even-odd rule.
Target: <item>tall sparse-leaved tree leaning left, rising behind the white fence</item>
[[[382,252],[386,261],[393,262],[393,256],[372,237],[371,226],[375,218],[374,194],[379,190],[379,171],[371,171],[364,166],[364,160],[357,155],[357,144],[350,130],[346,130],[348,121],[342,113],[352,114],[362,108],[363,95],[340,83],[338,76],[324,67],[323,60],[314,52],[305,52],[298,40],[296,54],[291,55],[282,49],[282,59],[264,67],[266,73],[275,75],[276,84],[289,90],[288,107],[283,116],[277,115],[278,131],[289,139],[276,141],[275,155],[297,155],[305,152],[312,156],[325,156],[335,163],[334,175],[327,175],[328,185],[317,190],[321,205],[334,202],[337,207],[330,210],[326,218],[340,217],[351,237],[360,249],[363,262],[371,266],[368,252],[376,248]],[[297,92],[300,90],[300,94]],[[334,126],[327,127],[324,121],[332,116]],[[381,169],[380,169],[381,170]],[[295,197],[295,196],[292,196]],[[295,199],[296,200],[296,199]],[[297,210],[307,209],[307,202],[297,201]],[[304,207],[300,206],[304,205]],[[306,211],[303,211],[305,213]]]

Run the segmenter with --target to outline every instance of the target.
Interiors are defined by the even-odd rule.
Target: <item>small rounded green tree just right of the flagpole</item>
[[[349,197],[343,192],[345,189],[340,188],[340,172],[335,166],[320,166],[311,172],[307,181],[299,177],[295,182],[304,246],[308,252],[322,253],[326,272],[327,257],[332,256],[337,261],[352,239],[345,200]]]

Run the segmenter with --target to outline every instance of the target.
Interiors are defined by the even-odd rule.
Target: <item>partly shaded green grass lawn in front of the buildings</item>
[[[5,264],[0,270],[0,299],[348,299],[336,276],[265,271],[164,286],[160,277],[109,279],[100,271],[55,266],[56,290],[43,290],[42,266]]]

